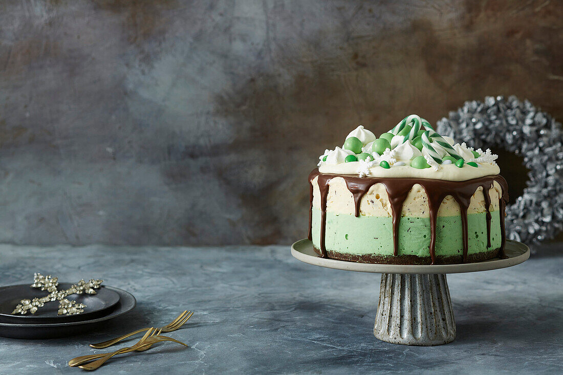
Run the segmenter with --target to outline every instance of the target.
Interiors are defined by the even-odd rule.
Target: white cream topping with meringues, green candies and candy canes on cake
[[[357,127],[348,134],[342,148],[325,150],[319,157],[319,171],[358,174],[360,177],[421,177],[450,181],[499,173],[495,163],[497,155],[489,149],[474,151],[464,143],[458,144],[450,137],[440,136],[427,120],[418,115],[405,117],[383,136],[386,141],[377,141],[378,146],[375,147],[377,138],[373,132],[363,126]],[[390,148],[383,151],[384,144]]]

